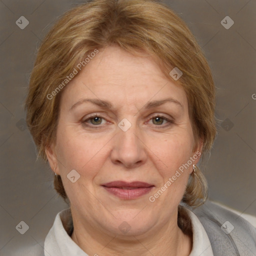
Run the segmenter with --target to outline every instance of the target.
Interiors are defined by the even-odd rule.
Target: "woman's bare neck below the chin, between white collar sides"
[[[166,223],[157,232],[143,236],[109,235],[95,231],[90,223],[73,218],[72,240],[88,255],[188,256],[192,249],[192,235],[184,234],[177,225]]]

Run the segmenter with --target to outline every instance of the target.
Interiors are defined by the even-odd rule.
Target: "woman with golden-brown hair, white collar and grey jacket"
[[[165,5],[94,0],[65,13],[26,98],[38,155],[70,207],[44,255],[254,255],[255,229],[204,203],[197,164],[215,138],[214,106],[207,61]]]

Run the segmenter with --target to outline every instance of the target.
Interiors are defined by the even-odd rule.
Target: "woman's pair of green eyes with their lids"
[[[149,121],[150,120],[152,120],[152,125],[156,128],[165,128],[174,123],[173,120],[170,120],[166,116],[163,116],[160,114],[155,114],[155,115],[151,116]],[[83,120],[82,124],[86,127],[96,129],[96,128],[103,127],[102,121],[103,121],[103,124],[107,123],[107,121],[105,120],[104,117],[102,117],[100,114],[95,113],[95,114],[89,116],[88,118],[86,118],[85,120]],[[156,121],[156,124],[154,123],[154,121]],[[164,123],[164,121],[165,121],[165,123]],[[148,121],[146,123],[148,123]],[[159,126],[159,127],[157,127],[157,126]]]

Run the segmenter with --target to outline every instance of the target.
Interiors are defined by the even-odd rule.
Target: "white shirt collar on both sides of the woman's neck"
[[[201,222],[192,211],[185,210],[191,219],[193,233],[189,256],[213,256],[209,238]],[[70,208],[58,212],[44,241],[45,256],[88,256],[69,236],[72,232],[71,221]]]

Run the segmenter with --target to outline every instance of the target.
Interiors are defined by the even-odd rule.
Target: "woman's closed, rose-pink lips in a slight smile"
[[[144,194],[147,194],[154,185],[142,181],[111,181],[102,184],[103,188],[109,193],[121,199],[136,199]]]

